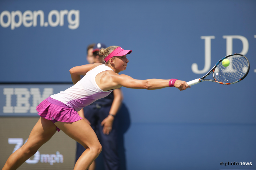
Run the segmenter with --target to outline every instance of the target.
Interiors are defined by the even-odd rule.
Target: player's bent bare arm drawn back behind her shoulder
[[[79,80],[81,80],[80,75],[85,75],[89,70],[92,68],[95,68],[97,66],[101,65],[100,63],[95,63],[95,64],[86,64],[82,66],[76,66],[73,67],[69,70],[71,74],[71,79],[73,84],[76,84]]]

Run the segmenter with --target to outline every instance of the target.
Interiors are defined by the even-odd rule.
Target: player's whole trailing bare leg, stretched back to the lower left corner
[[[38,149],[46,143],[56,132],[56,125],[45,118],[40,117],[32,129],[28,141],[7,159],[2,170],[14,170],[33,156]]]

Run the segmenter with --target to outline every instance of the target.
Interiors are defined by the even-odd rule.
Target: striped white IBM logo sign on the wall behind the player
[[[47,97],[53,95],[53,88],[44,88],[41,95],[39,88],[3,88],[6,96],[3,113],[38,113],[35,109]],[[16,106],[12,106],[12,95],[16,95]],[[32,96],[32,105],[29,99]]]

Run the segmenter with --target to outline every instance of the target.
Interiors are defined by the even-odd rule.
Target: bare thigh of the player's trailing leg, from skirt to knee
[[[37,151],[55,133],[56,125],[51,120],[40,117],[32,129],[27,142],[23,145],[23,148]]]

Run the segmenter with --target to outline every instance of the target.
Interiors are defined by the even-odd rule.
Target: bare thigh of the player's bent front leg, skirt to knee
[[[69,137],[79,142],[85,149],[95,146],[101,147],[94,130],[83,119],[72,123],[55,122],[55,124]]]

